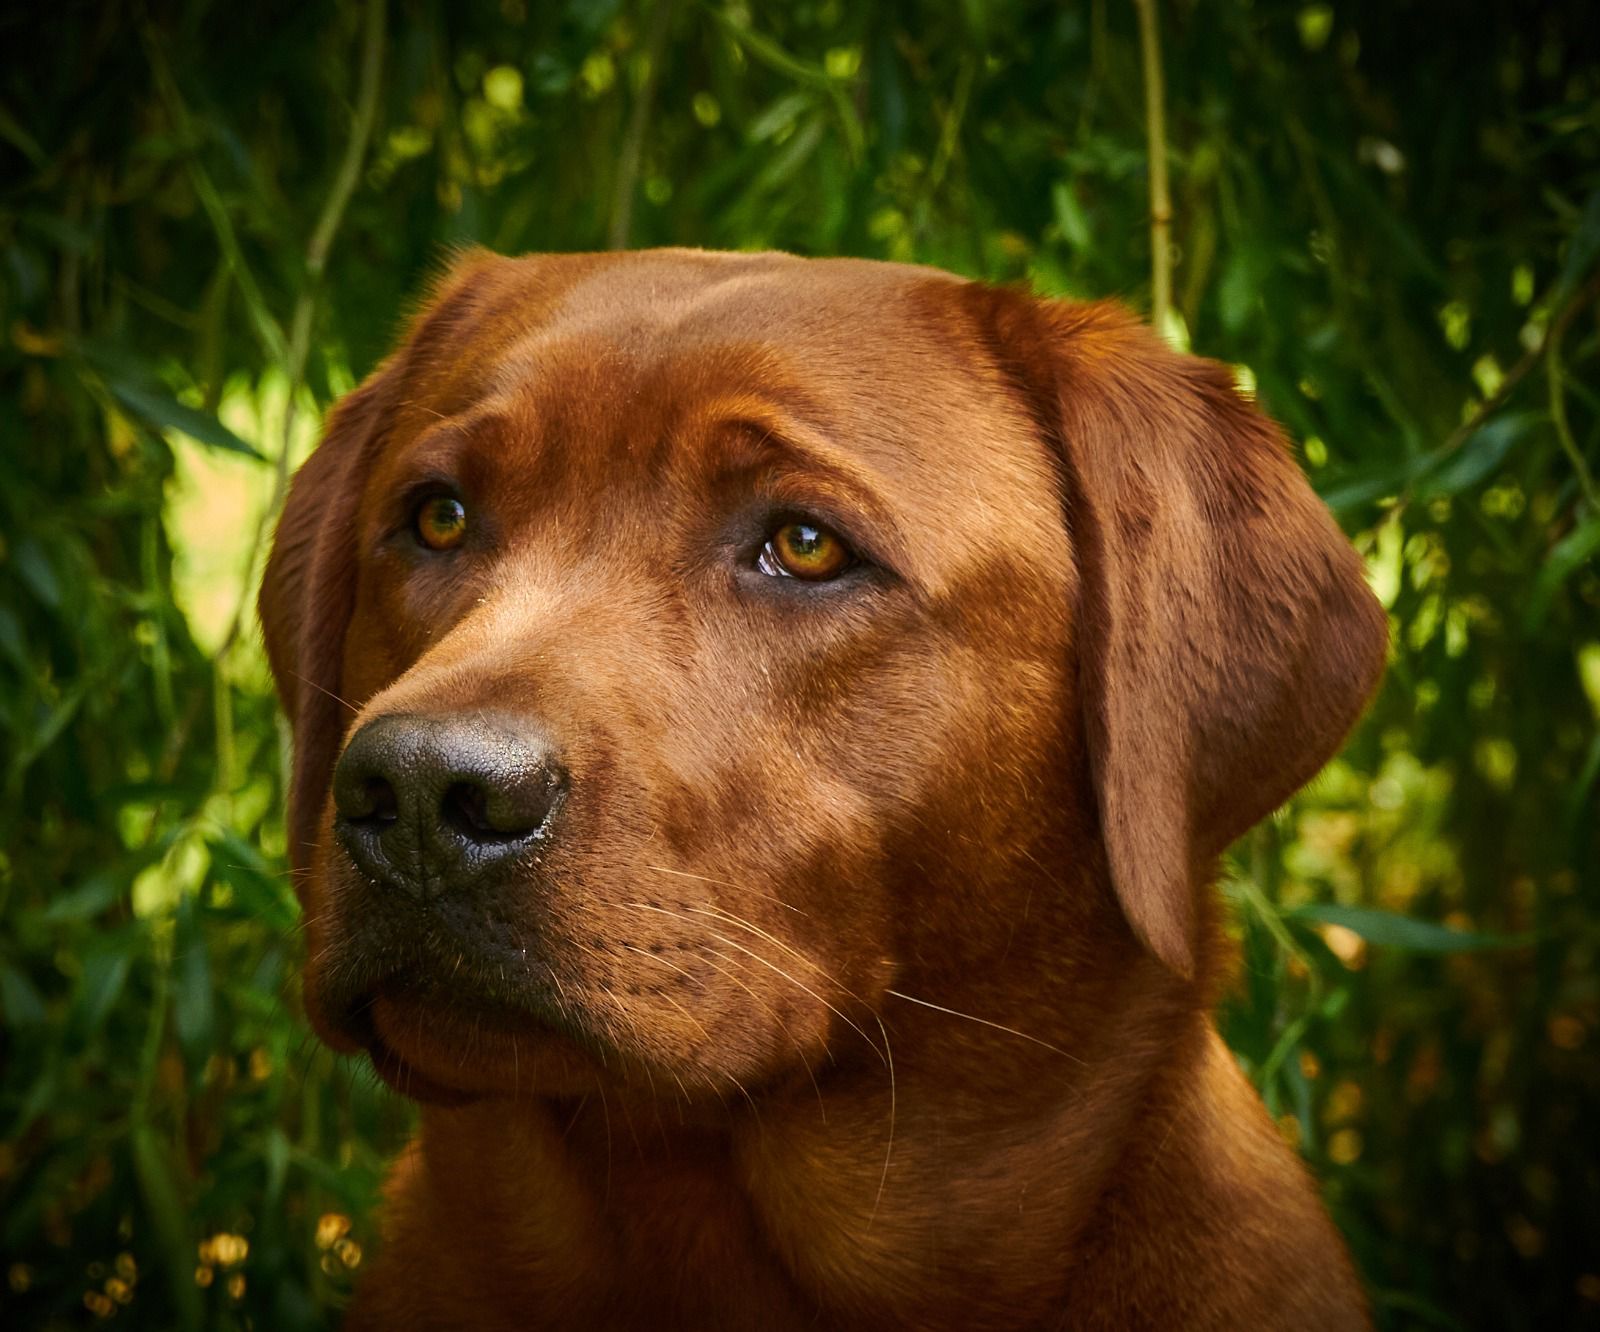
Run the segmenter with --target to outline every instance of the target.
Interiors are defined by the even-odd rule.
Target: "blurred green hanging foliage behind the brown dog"
[[[376,1242],[410,1111],[298,1012],[253,592],[477,242],[939,264],[1237,367],[1394,648],[1230,855],[1226,1034],[1384,1327],[1600,1326],[1594,5],[1144,14],[0,8],[0,1324],[326,1326]]]

